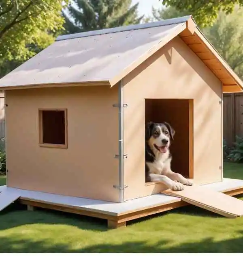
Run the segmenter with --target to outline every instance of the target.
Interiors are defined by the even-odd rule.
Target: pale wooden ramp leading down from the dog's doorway
[[[161,193],[179,197],[184,202],[228,218],[236,218],[243,215],[242,200],[202,186],[185,186],[182,191],[168,189]]]

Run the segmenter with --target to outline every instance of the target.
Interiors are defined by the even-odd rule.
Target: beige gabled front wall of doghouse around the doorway
[[[145,98],[194,100],[194,183],[220,181],[221,84],[176,37],[124,79],[124,103],[128,104],[124,109],[124,153],[128,154],[124,160],[125,199],[163,189],[158,184],[145,186]]]

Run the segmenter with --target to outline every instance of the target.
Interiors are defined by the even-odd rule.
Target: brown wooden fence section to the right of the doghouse
[[[232,146],[235,136],[243,137],[243,93],[224,93],[224,139]]]

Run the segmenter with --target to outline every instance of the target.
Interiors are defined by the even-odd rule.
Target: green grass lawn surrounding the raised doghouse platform
[[[243,179],[243,165],[225,163],[224,176]],[[243,217],[227,219],[194,206],[117,230],[107,230],[100,219],[21,207],[11,205],[0,214],[0,252],[243,251]]]

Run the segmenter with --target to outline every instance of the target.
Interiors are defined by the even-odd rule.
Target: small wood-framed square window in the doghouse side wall
[[[40,109],[40,146],[67,148],[67,110]]]

